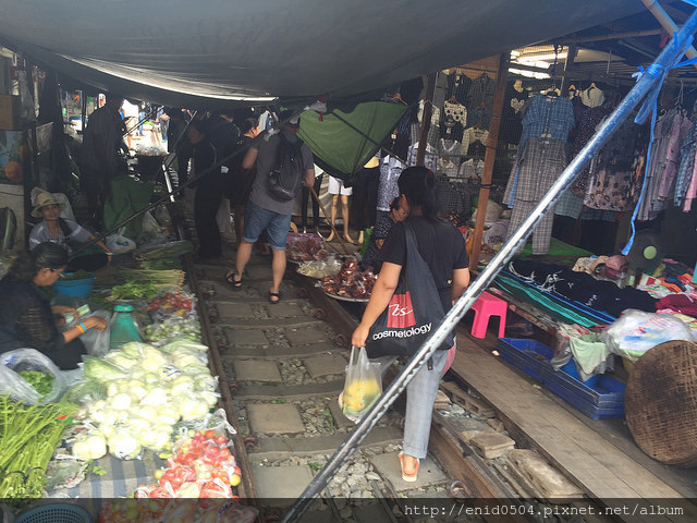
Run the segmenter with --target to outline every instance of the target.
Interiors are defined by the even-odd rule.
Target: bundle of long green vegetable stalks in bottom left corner
[[[39,498],[46,467],[72,422],[66,402],[26,406],[0,396],[0,499]]]

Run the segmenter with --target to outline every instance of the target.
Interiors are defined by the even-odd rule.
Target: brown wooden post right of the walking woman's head
[[[476,270],[479,265],[479,253],[481,252],[481,233],[484,222],[487,217],[487,202],[489,200],[489,190],[491,187],[491,177],[493,174],[493,160],[497,156],[497,143],[499,142],[499,129],[501,127],[501,112],[503,111],[503,98],[505,94],[505,82],[509,75],[509,53],[499,56],[499,71],[497,72],[496,90],[493,92],[493,106],[491,124],[489,125],[489,137],[487,139],[487,154],[484,157],[484,171],[481,173],[481,188],[479,190],[479,204],[477,205],[477,221],[475,222],[475,239],[469,257],[469,270]]]

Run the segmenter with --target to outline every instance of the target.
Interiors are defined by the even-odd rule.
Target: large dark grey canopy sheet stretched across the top
[[[129,98],[346,98],[624,17],[638,0],[0,0],[0,39]]]

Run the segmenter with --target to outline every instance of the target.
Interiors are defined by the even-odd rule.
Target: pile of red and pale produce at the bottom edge
[[[232,441],[216,430],[191,430],[180,439],[157,484],[142,486],[136,498],[231,498],[241,471],[230,452]]]

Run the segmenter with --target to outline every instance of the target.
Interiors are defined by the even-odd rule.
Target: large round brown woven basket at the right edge
[[[697,465],[697,343],[669,341],[635,364],[624,397],[640,449],[661,463]]]

